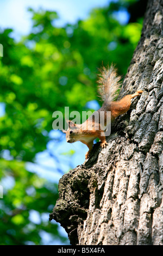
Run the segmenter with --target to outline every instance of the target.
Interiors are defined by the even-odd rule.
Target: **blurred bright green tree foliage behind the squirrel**
[[[26,163],[46,149],[54,111],[64,113],[69,106],[70,112],[82,112],[88,101],[98,99],[96,74],[102,64],[115,63],[120,75],[126,74],[140,39],[142,2],[112,2],[65,27],[55,26],[57,13],[29,9],[32,31],[19,42],[11,29],[1,30],[0,102],[5,114],[0,118],[0,185],[10,184],[0,199],[1,245],[40,245],[41,231],[66,242],[57,224],[48,222],[57,185],[29,172]],[[130,20],[121,24],[117,17],[124,10]],[[32,210],[39,213],[37,223],[30,220]]]

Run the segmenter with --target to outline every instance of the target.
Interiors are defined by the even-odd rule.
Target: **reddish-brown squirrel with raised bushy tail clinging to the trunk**
[[[99,74],[99,80],[97,82],[98,93],[103,101],[103,105],[96,113],[100,114],[103,111],[104,123],[106,123],[106,112],[110,111],[112,122],[118,115],[126,113],[130,108],[131,99],[139,96],[143,91],[138,90],[134,94],[128,94],[121,100],[115,101],[118,94],[117,92],[121,87],[121,76],[117,75],[117,69],[112,64],[110,68],[103,66],[100,71],[101,73]],[[83,124],[75,124],[73,121],[68,120],[68,130],[63,130],[63,132],[66,133],[66,141],[68,143],[80,141],[87,145],[89,151],[85,154],[85,159],[90,155],[94,139],[99,138],[101,140],[100,145],[102,148],[105,148],[107,145],[104,130],[99,124],[99,119],[96,121],[95,118],[93,118],[93,114]]]

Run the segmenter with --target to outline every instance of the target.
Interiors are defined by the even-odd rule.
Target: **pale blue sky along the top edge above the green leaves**
[[[60,19],[57,26],[63,26],[67,22],[75,23],[79,19],[85,19],[92,8],[104,7],[110,0],[1,0],[0,1],[0,27],[14,28],[16,36],[29,33],[32,22],[29,7],[38,10],[40,7],[57,11]]]

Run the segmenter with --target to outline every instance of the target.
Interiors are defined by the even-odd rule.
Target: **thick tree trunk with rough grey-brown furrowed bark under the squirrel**
[[[162,10],[162,0],[149,0],[119,97],[142,95],[115,120],[107,147],[95,144],[59,181],[50,218],[72,245],[163,245]]]

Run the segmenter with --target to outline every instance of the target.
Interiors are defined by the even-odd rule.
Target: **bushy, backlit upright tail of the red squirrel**
[[[116,99],[119,93],[121,76],[117,75],[117,69],[112,64],[110,68],[109,66],[108,68],[103,66],[99,70],[101,73],[98,80],[98,93],[102,101],[109,104]]]

